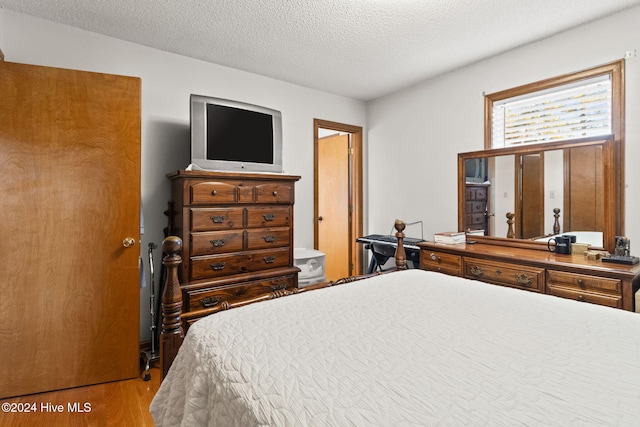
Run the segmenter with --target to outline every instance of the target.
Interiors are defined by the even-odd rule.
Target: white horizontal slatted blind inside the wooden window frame
[[[612,133],[609,74],[496,101],[492,146],[510,147]]]

